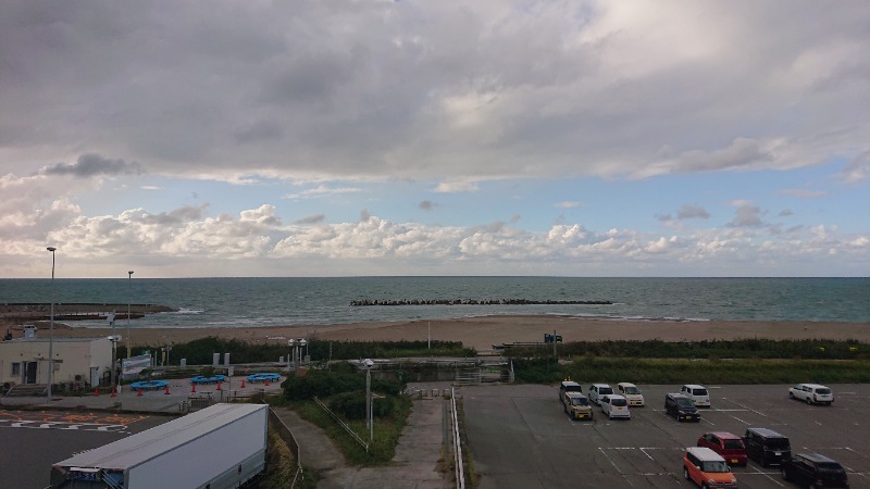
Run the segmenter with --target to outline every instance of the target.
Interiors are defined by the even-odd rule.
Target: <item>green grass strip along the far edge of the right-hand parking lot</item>
[[[557,383],[566,377],[579,381],[635,384],[819,384],[870,383],[867,360],[685,360],[685,359],[601,359],[581,356],[571,363],[552,359],[514,361],[518,381]]]

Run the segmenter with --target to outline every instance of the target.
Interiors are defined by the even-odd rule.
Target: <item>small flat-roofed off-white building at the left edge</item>
[[[112,365],[109,338],[54,338],[54,384],[97,386]],[[0,386],[48,384],[49,339],[25,337],[0,341]]]

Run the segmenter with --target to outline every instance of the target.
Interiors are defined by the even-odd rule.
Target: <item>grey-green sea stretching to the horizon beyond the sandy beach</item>
[[[55,278],[57,303],[161,304],[132,327],[257,327],[559,315],[700,322],[870,323],[870,278]],[[608,301],[609,304],[352,306],[359,300]],[[0,304],[50,303],[48,279],[0,279]],[[123,309],[122,311],[123,312]],[[101,321],[76,326],[104,327]]]

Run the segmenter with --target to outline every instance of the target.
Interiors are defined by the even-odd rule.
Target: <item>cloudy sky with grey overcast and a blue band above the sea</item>
[[[870,275],[870,2],[0,3],[0,277]]]

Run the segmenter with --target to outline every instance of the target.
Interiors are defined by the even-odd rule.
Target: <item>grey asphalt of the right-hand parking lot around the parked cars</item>
[[[585,392],[589,383],[581,385]],[[853,489],[870,489],[870,385],[831,385],[830,408],[790,400],[791,386],[708,385],[712,406],[700,410],[700,423],[664,415],[664,394],[680,386],[638,387],[647,406],[612,422],[596,406],[592,422],[572,422],[552,386],[463,387],[467,448],[480,487],[693,487],[683,479],[682,457],[700,435],[766,427],[787,436],[793,453],[840,462]],[[733,472],[742,488],[796,487],[775,466],[750,461]]]

